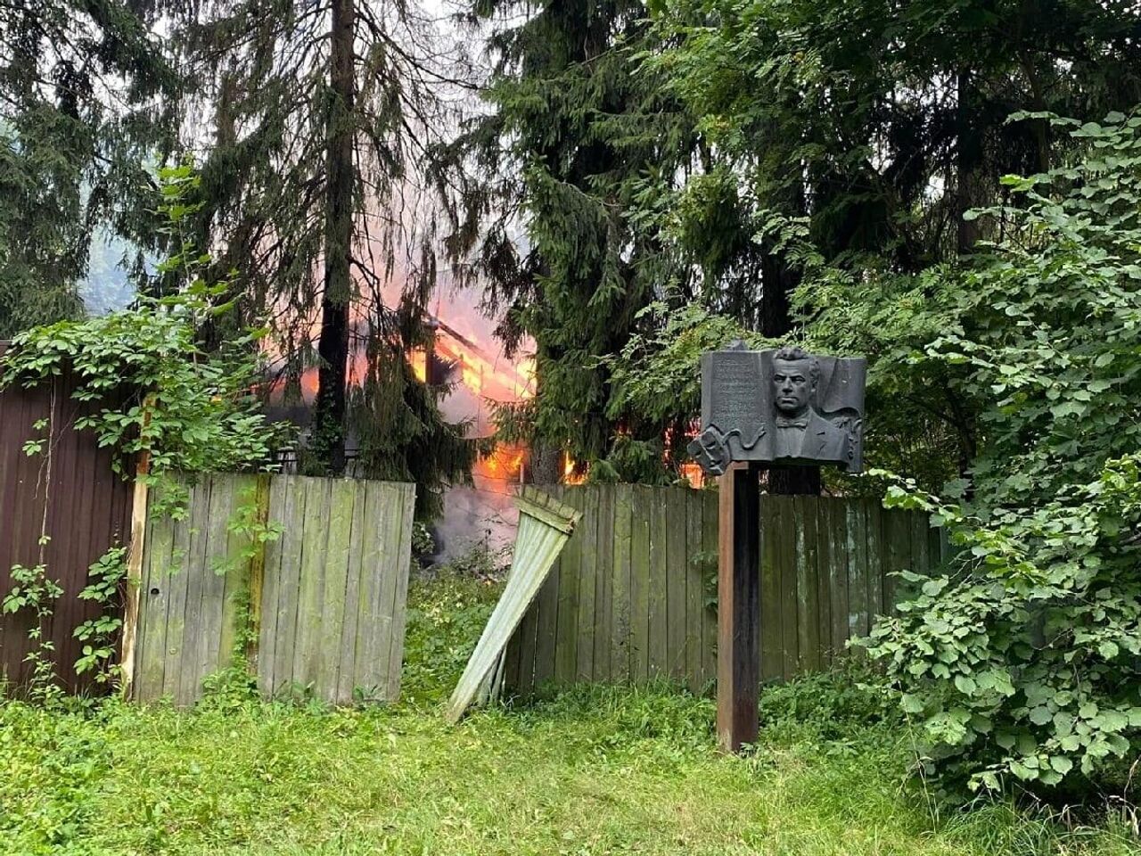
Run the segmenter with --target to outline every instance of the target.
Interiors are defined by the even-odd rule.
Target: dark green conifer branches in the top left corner
[[[178,86],[162,6],[0,2],[0,339],[82,314],[95,234],[153,247],[145,164]]]

